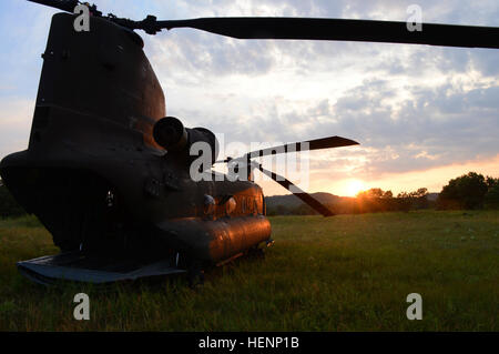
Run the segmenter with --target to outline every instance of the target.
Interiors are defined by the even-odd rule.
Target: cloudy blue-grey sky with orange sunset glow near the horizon
[[[498,27],[499,2],[210,0],[95,2],[135,20],[316,17]],[[50,18],[55,10],[0,2],[0,159],[27,149]],[[139,33],[166,112],[225,143],[251,146],[339,135],[360,143],[305,154],[307,192],[439,192],[469,171],[499,178],[499,50],[430,45],[236,40],[190,29]],[[228,151],[225,151],[228,152]],[[220,156],[225,158],[225,156]],[[292,156],[294,158],[294,156]],[[269,160],[264,166],[272,168]],[[277,163],[274,168],[282,172]],[[220,168],[218,168],[220,169]],[[287,173],[289,172],[289,173]],[[293,176],[293,171],[285,175]],[[259,172],[256,172],[258,174]],[[299,176],[299,175],[298,175]],[[257,176],[267,195],[287,193]],[[304,181],[302,181],[304,180]]]

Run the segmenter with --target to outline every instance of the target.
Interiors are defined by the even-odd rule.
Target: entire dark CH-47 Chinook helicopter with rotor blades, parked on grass
[[[253,161],[288,151],[357,144],[330,136],[217,161],[215,135],[166,117],[162,88],[135,30],[194,28],[237,39],[342,40],[499,48],[499,29],[309,18],[203,18],[142,21],[103,16],[89,6],[90,31],[75,31],[75,0],[30,0],[64,12],[52,18],[29,148],[1,161],[19,203],[35,214],[61,253],[19,262],[40,283],[106,283],[186,272],[200,280],[220,264],[272,244],[258,169],[325,216],[332,212],[292,182]],[[68,13],[70,12],[70,13]],[[211,164],[237,178],[194,181],[196,142]],[[201,169],[215,175],[211,165]]]

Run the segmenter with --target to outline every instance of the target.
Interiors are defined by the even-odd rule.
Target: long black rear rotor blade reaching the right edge
[[[201,18],[156,21],[161,29],[194,28],[238,39],[308,39],[390,42],[446,47],[499,48],[499,28],[410,22],[314,18]]]

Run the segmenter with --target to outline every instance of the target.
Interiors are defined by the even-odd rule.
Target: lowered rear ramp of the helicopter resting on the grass
[[[50,285],[58,281],[109,284],[142,277],[186,273],[174,260],[145,262],[134,259],[105,259],[82,252],[65,252],[18,262],[18,270],[30,280]]]

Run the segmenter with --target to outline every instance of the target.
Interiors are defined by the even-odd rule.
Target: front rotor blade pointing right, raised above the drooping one
[[[266,155],[275,155],[278,153],[286,152],[295,152],[295,151],[307,151],[307,150],[320,150],[320,149],[330,149],[330,148],[340,148],[340,146],[349,146],[349,145],[358,145],[359,143],[353,141],[350,139],[342,138],[342,136],[328,136],[308,141],[302,141],[296,143],[289,143],[285,145],[262,149],[248,152],[246,155],[249,159],[266,156]]]

